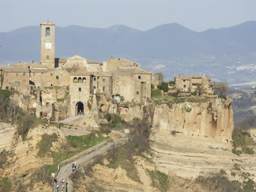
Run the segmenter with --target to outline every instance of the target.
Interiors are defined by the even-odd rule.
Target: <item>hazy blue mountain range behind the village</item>
[[[202,69],[203,63],[211,65],[217,62],[218,65],[231,65],[237,63],[237,58],[242,58],[244,65],[250,64],[255,59],[255,42],[256,21],[247,21],[228,28],[208,29],[200,33],[178,23],[161,25],[147,31],[122,25],[106,29],[57,26],[55,57],[71,57],[77,51],[77,54],[91,60],[104,61],[110,56],[123,57],[141,62],[142,67],[151,69],[158,64],[166,67],[168,63],[177,63],[181,66],[177,68],[177,73],[184,71],[183,73],[186,74],[184,69],[188,69],[188,66],[194,67],[189,68],[188,71],[193,73],[193,70]],[[2,32],[0,45],[2,45],[0,47],[2,65],[11,61],[39,62],[40,26]],[[228,55],[228,59],[223,58],[223,55]],[[175,58],[182,59],[177,62]],[[212,58],[214,61],[211,60]],[[170,68],[174,66],[177,65],[173,64]],[[170,68],[166,67],[166,69]],[[207,73],[206,69],[208,68],[200,73]]]

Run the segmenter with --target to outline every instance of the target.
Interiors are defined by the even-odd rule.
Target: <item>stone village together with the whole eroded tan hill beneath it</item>
[[[251,160],[246,155],[237,156],[253,154],[253,146],[233,145],[237,143],[232,134],[233,101],[218,97],[217,85],[209,76],[175,75],[167,84],[162,73],[152,73],[122,58],[110,57],[103,62],[77,54],[55,58],[55,24],[46,21],[40,25],[41,62],[0,66],[1,92],[9,93],[8,102],[14,102],[0,109],[18,110],[18,103],[26,114],[20,119],[19,114],[9,114],[0,122],[0,157],[5,159],[3,169],[0,162],[0,174],[15,184],[13,191],[21,191],[16,190],[20,187],[16,178],[29,190],[57,191],[57,182],[52,186],[53,178],[49,177],[55,173],[59,184],[64,179],[68,187],[74,184],[75,190],[187,192],[215,191],[207,186],[197,190],[202,187],[197,183],[202,181],[202,173],[222,171],[244,186],[243,181],[256,174],[255,155]],[[27,118],[34,118],[33,126],[22,130],[29,122]],[[97,142],[92,144],[94,140]],[[101,156],[106,151],[108,155]],[[77,177],[72,179],[71,164],[76,160],[79,170],[91,175],[82,177],[77,170]],[[38,170],[46,176],[42,178]],[[45,174],[48,171],[49,175]],[[161,175],[166,177],[164,187]],[[221,175],[218,186],[226,177]],[[190,178],[195,190],[184,186],[187,181],[183,178]],[[223,186],[226,184],[225,180]]]

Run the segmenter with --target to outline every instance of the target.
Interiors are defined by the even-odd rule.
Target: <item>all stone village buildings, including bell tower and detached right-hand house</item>
[[[93,95],[105,94],[117,102],[139,103],[151,98],[151,86],[163,82],[162,73],[143,70],[139,63],[110,57],[97,62],[79,55],[55,58],[55,24],[41,25],[41,62],[1,66],[2,89],[14,90],[36,101],[30,103],[30,113],[50,121],[61,121],[77,115],[88,115]],[[175,76],[176,90],[194,92],[200,87],[213,93],[210,77],[200,75]],[[115,107],[108,107],[116,113]]]

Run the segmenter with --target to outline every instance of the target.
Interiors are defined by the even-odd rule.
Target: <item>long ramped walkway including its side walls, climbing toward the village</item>
[[[109,140],[110,141],[110,140]],[[121,147],[125,145],[126,142],[128,142],[128,138],[119,139],[113,142],[103,141],[99,143],[98,145],[95,145],[89,149],[86,149],[85,151],[81,152],[80,154],[77,154],[73,157],[70,157],[69,159],[66,159],[65,161],[60,163],[60,169],[57,172],[55,178],[58,179],[57,183],[59,184],[59,190],[61,189],[61,179],[65,180],[64,190],[63,191],[72,191],[72,186],[68,186],[67,188],[67,179],[69,178],[70,174],[72,173],[72,162],[77,162],[77,169],[85,166],[87,163],[93,161],[93,158],[102,155],[106,153],[108,150],[113,149],[114,147]],[[57,191],[57,183],[53,182],[53,192]],[[69,182],[68,182],[69,183]],[[61,190],[60,190],[61,191]]]

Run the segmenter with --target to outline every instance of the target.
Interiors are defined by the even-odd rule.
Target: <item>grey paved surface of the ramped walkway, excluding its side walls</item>
[[[105,153],[106,151],[112,149],[113,147],[121,147],[123,146],[126,142],[128,141],[128,138],[124,138],[124,139],[119,139],[116,141],[113,141],[111,143],[108,143],[107,145],[101,147],[98,150],[93,151],[90,154],[87,154],[81,158],[76,159],[77,162],[77,167],[83,167],[86,165],[86,163],[90,160],[92,160],[93,157],[96,157],[98,155],[102,155],[103,153]],[[61,191],[61,179],[65,180],[65,189],[63,191],[67,192],[67,188],[66,188],[66,180],[68,179],[68,177],[70,176],[70,174],[72,173],[72,163],[69,163],[65,166],[62,166],[58,172],[58,174],[55,176],[56,178],[58,178],[57,183],[59,184],[59,190]],[[57,183],[53,183],[53,192],[57,191]],[[68,187],[69,188],[69,187]],[[71,192],[71,191],[68,191]]]

